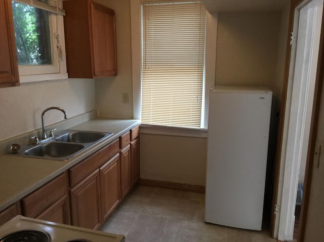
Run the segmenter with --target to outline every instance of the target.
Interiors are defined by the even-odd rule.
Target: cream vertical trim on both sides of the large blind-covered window
[[[141,2],[131,0],[132,74],[133,74],[133,118],[141,119]],[[174,2],[177,2],[176,0]],[[217,14],[207,12],[205,43],[205,102],[201,107],[201,127],[208,127],[209,90],[215,86]],[[168,127],[168,126],[166,126]]]

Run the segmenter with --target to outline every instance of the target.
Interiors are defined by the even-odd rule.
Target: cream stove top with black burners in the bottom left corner
[[[0,227],[0,242],[123,242],[112,234],[39,219],[16,216]]]

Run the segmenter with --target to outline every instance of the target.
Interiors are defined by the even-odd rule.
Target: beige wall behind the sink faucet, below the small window
[[[68,117],[95,109],[94,80],[65,79],[0,88],[0,140],[41,127],[41,113],[51,106],[62,107]],[[62,113],[50,111],[45,124],[62,119]]]

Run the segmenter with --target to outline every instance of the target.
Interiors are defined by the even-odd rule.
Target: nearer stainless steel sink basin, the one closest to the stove
[[[26,150],[24,154],[42,158],[61,158],[73,155],[83,148],[85,147],[78,143],[47,142]]]

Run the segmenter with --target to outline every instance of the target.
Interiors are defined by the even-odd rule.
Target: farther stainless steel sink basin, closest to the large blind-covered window
[[[105,135],[106,133],[100,132],[70,131],[57,137],[55,140],[73,143],[91,143],[101,139]]]

